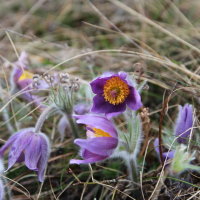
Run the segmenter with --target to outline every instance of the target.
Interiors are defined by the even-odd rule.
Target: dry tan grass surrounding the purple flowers
[[[52,142],[46,181],[39,184],[34,173],[23,165],[15,165],[7,172],[12,199],[200,198],[199,174],[164,176],[150,142],[159,132],[163,99],[172,91],[163,126],[173,125],[176,107],[186,102],[195,106],[198,121],[199,10],[199,0],[1,2],[0,111],[9,108],[8,121],[14,129],[34,125],[39,115],[31,103],[10,93],[11,63],[22,51],[29,53],[31,70],[40,74],[68,72],[87,84],[104,71],[123,70],[138,82],[146,80],[142,97],[149,107],[151,124],[144,142],[146,148],[143,147],[146,151],[143,150],[140,159],[141,183],[132,188],[119,160],[92,168],[69,166],[69,159],[76,156],[77,149],[70,137],[60,142],[56,130],[59,116],[50,118],[44,126]],[[9,135],[8,121],[4,120],[1,118],[1,144]]]

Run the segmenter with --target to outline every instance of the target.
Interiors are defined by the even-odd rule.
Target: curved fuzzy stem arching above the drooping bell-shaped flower
[[[42,114],[39,116],[37,122],[36,122],[36,125],[35,125],[35,132],[36,133],[39,133],[41,131],[41,128],[45,122],[45,120],[47,119],[48,115],[53,111],[55,110],[55,106],[54,105],[51,105],[51,106],[48,106],[43,112]]]

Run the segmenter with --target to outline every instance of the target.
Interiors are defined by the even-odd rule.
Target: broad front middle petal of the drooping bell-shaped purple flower
[[[25,165],[30,170],[38,170],[37,164],[41,156],[41,138],[39,134],[33,133],[28,148],[24,151]]]

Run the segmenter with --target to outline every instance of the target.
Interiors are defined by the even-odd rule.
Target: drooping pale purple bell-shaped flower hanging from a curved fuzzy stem
[[[37,172],[39,181],[43,182],[50,154],[50,144],[45,134],[35,133],[35,128],[21,129],[0,148],[0,158],[8,148],[7,170],[15,163],[24,162],[30,170]]]

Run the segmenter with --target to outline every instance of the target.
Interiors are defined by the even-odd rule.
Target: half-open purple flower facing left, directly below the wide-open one
[[[114,125],[103,116],[94,114],[76,115],[77,123],[85,124],[87,139],[76,139],[74,143],[81,147],[83,160],[72,159],[71,164],[86,164],[102,161],[111,156],[118,144],[118,135]]]

